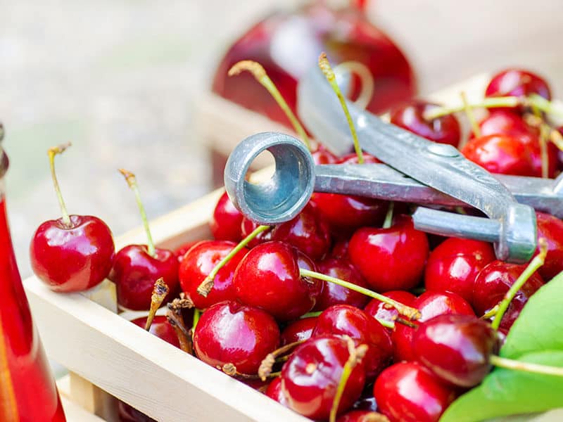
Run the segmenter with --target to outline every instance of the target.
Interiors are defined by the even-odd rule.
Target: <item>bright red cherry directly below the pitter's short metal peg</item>
[[[471,302],[475,277],[495,259],[491,243],[448,238],[431,252],[424,285],[428,290],[449,290]]]

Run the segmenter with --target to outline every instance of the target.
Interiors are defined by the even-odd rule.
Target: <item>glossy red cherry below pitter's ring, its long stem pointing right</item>
[[[279,321],[291,321],[309,312],[322,291],[322,283],[299,274],[298,250],[271,241],[255,246],[234,273],[236,298],[264,309]],[[315,264],[310,262],[310,267]]]

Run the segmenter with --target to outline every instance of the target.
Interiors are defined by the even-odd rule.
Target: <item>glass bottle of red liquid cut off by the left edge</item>
[[[65,414],[30,305],[6,219],[8,157],[0,124],[0,421],[64,422]]]

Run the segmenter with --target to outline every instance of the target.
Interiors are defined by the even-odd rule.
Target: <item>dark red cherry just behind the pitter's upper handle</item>
[[[391,123],[429,141],[448,143],[457,148],[461,140],[460,123],[453,114],[426,120],[424,113],[434,107],[435,104],[426,101],[412,100],[391,110]]]

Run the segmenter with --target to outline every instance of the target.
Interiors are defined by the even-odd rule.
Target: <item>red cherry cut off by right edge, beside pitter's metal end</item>
[[[551,280],[563,271],[563,222],[545,212],[536,212],[538,223],[538,239],[544,238],[548,242],[548,255],[538,273],[544,280]],[[536,250],[536,255],[539,252]]]

